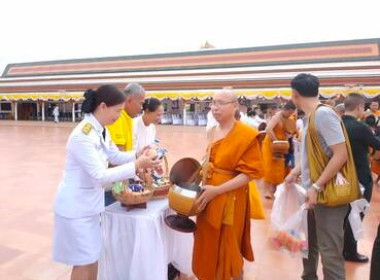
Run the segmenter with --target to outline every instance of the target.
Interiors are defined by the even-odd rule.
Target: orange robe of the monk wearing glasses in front
[[[258,131],[236,122],[231,132],[212,144],[207,185],[218,187],[238,174],[263,176]],[[221,194],[197,217],[193,271],[200,280],[230,280],[253,261],[248,185]]]

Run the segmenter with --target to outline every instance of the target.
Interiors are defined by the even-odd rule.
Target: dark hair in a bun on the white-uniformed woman
[[[97,90],[88,89],[84,93],[82,112],[93,113],[100,103],[114,106],[125,101],[125,94],[113,85],[104,85]]]

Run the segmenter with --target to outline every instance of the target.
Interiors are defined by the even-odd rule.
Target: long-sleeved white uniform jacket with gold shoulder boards
[[[120,152],[107,129],[103,140],[103,129],[93,114],[87,114],[71,133],[55,199],[54,209],[58,215],[82,218],[101,213],[104,211],[103,186],[135,176],[135,152]],[[108,168],[108,161],[119,166]]]

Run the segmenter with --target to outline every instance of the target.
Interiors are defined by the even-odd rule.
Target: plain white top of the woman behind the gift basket
[[[133,150],[141,151],[148,145],[154,144],[156,139],[156,126],[150,124],[146,126],[142,116],[133,119]]]

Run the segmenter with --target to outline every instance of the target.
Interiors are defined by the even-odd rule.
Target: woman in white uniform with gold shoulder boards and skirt
[[[66,165],[55,200],[53,258],[72,265],[71,280],[96,280],[102,241],[100,213],[104,188],[133,178],[158,162],[145,153],[120,152],[105,128],[120,116],[125,96],[112,85],[84,94],[83,121],[71,133]],[[118,165],[108,168],[108,162]],[[107,187],[105,187],[107,186]]]

